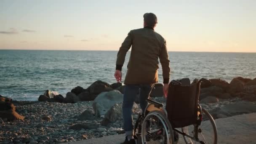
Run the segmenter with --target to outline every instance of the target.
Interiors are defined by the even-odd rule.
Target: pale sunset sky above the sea
[[[168,51],[256,52],[256,0],[0,0],[0,49],[118,51],[147,12]]]

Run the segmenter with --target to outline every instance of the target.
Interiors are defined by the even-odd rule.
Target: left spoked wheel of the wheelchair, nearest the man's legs
[[[144,118],[141,127],[142,144],[173,144],[173,129],[160,111],[152,111]]]

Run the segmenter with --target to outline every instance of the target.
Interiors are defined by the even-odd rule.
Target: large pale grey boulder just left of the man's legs
[[[123,94],[117,90],[99,94],[93,101],[93,110],[96,117],[105,115],[114,104],[120,103],[122,101]]]

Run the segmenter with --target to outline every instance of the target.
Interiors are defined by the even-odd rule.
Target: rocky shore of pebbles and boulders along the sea
[[[215,119],[256,112],[256,78],[210,81],[201,85],[200,104]],[[0,144],[63,143],[124,133],[123,87],[98,80],[86,89],[77,86],[65,97],[48,90],[39,101],[0,96]],[[165,104],[162,88],[155,85],[152,99]],[[141,112],[136,103],[135,120]]]

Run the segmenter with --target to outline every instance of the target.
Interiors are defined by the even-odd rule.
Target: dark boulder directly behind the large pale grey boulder
[[[114,89],[111,88],[111,85],[108,83],[102,82],[101,80],[97,80],[93,84],[91,84],[88,89],[90,89],[91,94],[100,94],[105,91],[112,91]]]

